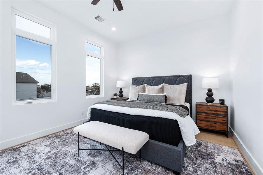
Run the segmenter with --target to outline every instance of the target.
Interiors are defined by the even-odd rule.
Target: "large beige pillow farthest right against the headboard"
[[[185,104],[187,83],[180,85],[164,84],[164,93],[166,93],[166,103]]]

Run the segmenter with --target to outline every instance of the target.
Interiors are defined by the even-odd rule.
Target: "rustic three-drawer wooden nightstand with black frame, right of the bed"
[[[196,102],[195,124],[198,128],[224,132],[228,138],[228,106]]]

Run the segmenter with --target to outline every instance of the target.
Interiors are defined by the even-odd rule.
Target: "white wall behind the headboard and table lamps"
[[[229,16],[221,16],[164,31],[118,45],[119,79],[125,80],[129,96],[132,77],[192,74],[192,118],[195,102],[205,102],[207,89],[202,78],[218,77],[215,102],[230,104]]]

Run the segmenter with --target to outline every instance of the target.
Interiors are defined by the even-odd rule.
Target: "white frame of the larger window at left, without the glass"
[[[28,20],[44,25],[51,29],[51,39],[15,28],[15,15],[19,15]],[[12,8],[12,105],[21,104],[36,104],[57,101],[57,53],[56,53],[56,26],[50,22],[47,22],[39,17],[30,15],[20,10]],[[36,42],[48,44],[51,46],[51,98],[50,99],[35,99],[35,100],[16,100],[16,36],[27,38]]]

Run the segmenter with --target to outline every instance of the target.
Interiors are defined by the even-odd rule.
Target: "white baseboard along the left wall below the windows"
[[[10,139],[10,140],[6,140],[6,141],[3,141],[3,142],[0,142],[0,150],[8,148],[8,147],[11,147],[11,146],[15,146],[15,145],[18,145],[18,144],[21,144],[21,143],[24,143],[24,142],[27,142],[27,141],[30,141],[30,140],[34,140],[34,139],[37,139],[39,137],[43,137],[43,136],[46,136],[46,135],[49,135],[49,134],[52,134],[52,133],[55,133],[55,132],[59,132],[61,130],[67,129],[67,128],[71,128],[71,127],[80,125],[84,121],[87,121],[87,119],[85,118],[85,119],[82,119],[82,120],[78,120],[78,121],[75,121],[75,122],[67,123],[67,124],[64,124],[64,125],[60,125],[60,126],[57,126],[57,127],[50,128],[50,129],[45,129],[43,131],[39,131],[39,132],[35,132],[35,133],[28,134],[28,135],[25,135],[25,136],[17,137],[15,139]]]

